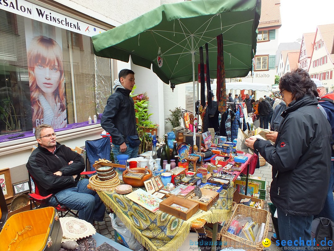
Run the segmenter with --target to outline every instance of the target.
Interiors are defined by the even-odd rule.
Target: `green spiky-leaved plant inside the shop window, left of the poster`
[[[5,131],[21,130],[20,120],[17,119],[13,102],[7,98],[2,99],[0,106],[0,119],[5,123]]]

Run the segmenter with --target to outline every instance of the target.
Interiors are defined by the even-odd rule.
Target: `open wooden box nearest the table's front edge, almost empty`
[[[183,212],[173,207],[173,204],[180,205],[187,208],[188,210]],[[177,197],[175,195],[171,195],[167,199],[164,199],[162,202],[160,202],[159,210],[169,215],[180,218],[181,220],[187,221],[198,211],[198,203]]]

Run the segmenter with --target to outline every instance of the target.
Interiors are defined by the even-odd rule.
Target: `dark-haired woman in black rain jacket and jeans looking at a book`
[[[270,198],[277,207],[280,239],[292,240],[293,247],[306,246],[313,215],[326,199],[331,128],[318,109],[317,89],[307,71],[285,74],[279,88],[287,109],[282,112],[275,145],[255,138],[246,139],[246,145],[273,166]]]

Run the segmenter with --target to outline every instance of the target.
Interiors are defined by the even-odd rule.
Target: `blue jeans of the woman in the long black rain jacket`
[[[290,250],[298,250],[296,247],[300,246],[306,247],[306,250],[313,250],[313,242],[310,243],[313,215],[289,215],[284,213],[280,208],[277,208],[277,220],[280,240],[281,242],[283,240],[286,241],[285,246],[283,246],[283,250],[287,248]],[[292,246],[287,245],[288,240],[292,241]],[[297,242],[295,242],[295,240]],[[307,244],[309,244],[309,246],[311,244],[311,249],[307,249]]]

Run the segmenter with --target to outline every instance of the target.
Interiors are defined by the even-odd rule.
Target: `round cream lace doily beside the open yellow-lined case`
[[[76,241],[96,233],[93,225],[84,220],[73,217],[61,217],[59,221],[63,231],[61,242]]]

